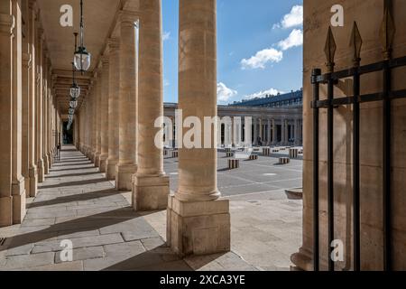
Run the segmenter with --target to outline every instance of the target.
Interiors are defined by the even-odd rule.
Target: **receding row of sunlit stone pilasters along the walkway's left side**
[[[61,117],[35,1],[0,4],[0,227],[20,224],[54,161]]]

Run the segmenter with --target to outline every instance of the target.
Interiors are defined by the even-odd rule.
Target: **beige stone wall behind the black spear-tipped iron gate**
[[[304,163],[303,163],[303,246],[292,256],[292,261],[302,269],[312,269],[313,234],[313,118],[310,101],[312,86],[311,70],[327,72],[324,47],[328,25],[333,15],[333,5],[344,7],[344,27],[333,27],[337,42],[336,70],[352,67],[353,55],[349,49],[354,21],[363,38],[361,65],[383,61],[383,45],[380,28],[383,22],[383,0],[304,0]],[[406,1],[393,0],[393,18],[396,35],[392,57],[406,55]],[[393,88],[405,89],[406,69],[393,70]],[[361,77],[361,94],[382,90],[382,73]],[[335,97],[352,95],[352,80],[341,81],[335,89]],[[327,87],[321,86],[320,98],[327,96]],[[361,104],[361,268],[383,269],[383,114],[382,103]],[[336,264],[339,269],[352,269],[352,107],[343,106],[334,113],[334,158],[335,158],[335,238],[345,243],[345,261]],[[327,110],[320,109],[319,151],[319,216],[320,216],[320,267],[326,269],[328,249],[327,218]],[[406,99],[392,103],[392,257],[394,269],[406,269]]]

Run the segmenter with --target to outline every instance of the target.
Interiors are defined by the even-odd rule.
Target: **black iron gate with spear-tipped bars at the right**
[[[328,110],[328,270],[334,271],[335,265],[330,246],[334,240],[334,109],[339,106],[353,106],[353,259],[354,270],[360,270],[360,104],[364,102],[383,102],[383,268],[392,270],[392,234],[391,234],[391,113],[392,100],[396,98],[406,98],[406,89],[392,90],[392,70],[406,66],[406,57],[392,59],[392,40],[395,34],[395,25],[392,18],[392,2],[384,0],[384,15],[381,29],[383,39],[383,61],[360,66],[362,38],[354,23],[351,35],[351,48],[353,51],[353,67],[347,70],[334,71],[334,56],[337,49],[331,28],[328,29],[328,39],[326,42],[327,68],[326,74],[321,74],[320,69],[312,70],[311,83],[313,85],[313,254],[314,270],[319,270],[319,220],[318,220],[318,153],[319,139],[318,129],[319,110]],[[381,92],[360,95],[360,77],[372,72],[383,73],[383,89]],[[335,98],[334,87],[339,79],[353,79],[353,96],[346,98]],[[319,86],[328,86],[328,96],[326,100],[319,99]]]

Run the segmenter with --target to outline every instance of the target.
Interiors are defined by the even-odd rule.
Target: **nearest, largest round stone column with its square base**
[[[216,3],[180,0],[179,107],[183,117],[198,117],[202,124],[204,117],[217,117]],[[230,249],[229,202],[218,200],[217,125],[211,128],[211,148],[179,152],[179,188],[169,198],[167,242],[180,256]]]

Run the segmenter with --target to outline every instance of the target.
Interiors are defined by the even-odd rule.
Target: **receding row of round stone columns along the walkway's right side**
[[[185,118],[202,122],[217,116],[216,6],[180,0],[180,107]],[[180,149],[174,195],[155,145],[155,120],[163,116],[161,25],[161,0],[120,11],[75,117],[76,144],[117,190],[133,191],[134,210],[168,210],[167,241],[180,256],[227,251],[229,204],[217,190],[216,130],[211,149]]]

